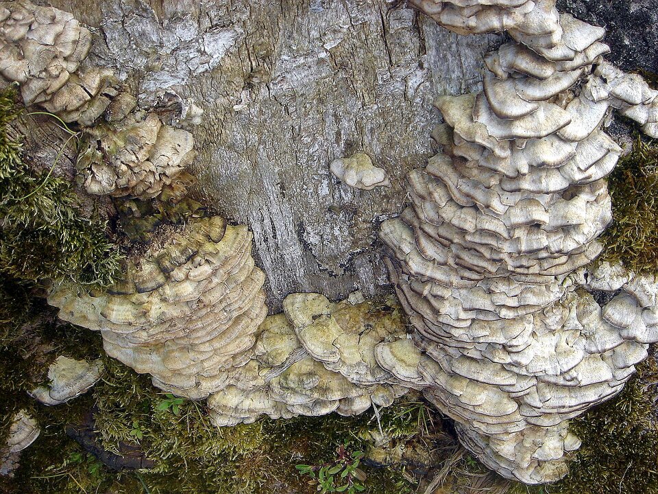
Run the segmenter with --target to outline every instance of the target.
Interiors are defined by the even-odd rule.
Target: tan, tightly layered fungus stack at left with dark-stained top
[[[48,301],[60,318],[101,331],[108,355],[151,374],[158,388],[202,399],[249,361],[267,314],[251,249],[245,226],[191,220],[107,290],[62,284]]]

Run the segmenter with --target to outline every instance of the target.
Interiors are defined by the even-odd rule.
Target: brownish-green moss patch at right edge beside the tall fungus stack
[[[637,139],[608,181],[613,223],[601,237],[600,259],[658,271],[658,142]]]

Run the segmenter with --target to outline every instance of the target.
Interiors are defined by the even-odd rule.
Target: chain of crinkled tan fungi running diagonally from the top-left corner
[[[78,165],[91,194],[151,198],[193,160],[193,137],[135,109],[109,69],[83,67],[92,42],[72,14],[29,1],[0,3],[0,73],[39,105],[86,126]],[[99,119],[105,122],[98,124]]]

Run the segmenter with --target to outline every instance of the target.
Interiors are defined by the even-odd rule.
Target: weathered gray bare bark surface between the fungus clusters
[[[94,27],[87,63],[112,67],[142,106],[204,110],[197,198],[254,232],[269,307],[291,292],[344,298],[387,284],[378,224],[433,154],[436,95],[480,86],[498,36],[457,36],[383,0],[53,0]],[[365,152],[392,187],[329,172]]]

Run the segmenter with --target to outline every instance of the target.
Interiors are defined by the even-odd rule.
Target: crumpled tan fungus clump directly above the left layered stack
[[[89,132],[77,166],[91,194],[154,198],[195,156],[192,134],[163,124],[155,113],[133,113]]]

